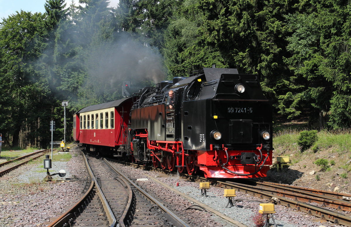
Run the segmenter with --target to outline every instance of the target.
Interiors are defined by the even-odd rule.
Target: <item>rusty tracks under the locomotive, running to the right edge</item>
[[[136,165],[135,163],[127,163]],[[144,167],[154,171],[172,174],[160,168]],[[314,215],[322,220],[327,220],[335,224],[351,227],[351,202],[342,200],[343,196],[351,197],[349,194],[323,191],[312,188],[283,185],[278,183],[261,182],[253,180],[241,180],[240,182],[217,181],[206,179],[200,176],[180,174],[195,181],[210,181],[212,185],[223,188],[236,189],[237,191],[251,194],[261,199],[271,200],[272,197],[278,199],[278,204],[302,211],[308,215]]]

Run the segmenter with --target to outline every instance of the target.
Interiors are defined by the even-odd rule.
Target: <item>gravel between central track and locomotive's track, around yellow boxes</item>
[[[174,189],[177,189],[178,191],[202,202],[205,203],[206,205],[212,207],[213,209],[216,209],[220,213],[223,213],[230,218],[237,220],[249,227],[255,227],[254,222],[253,222],[253,217],[258,214],[259,210],[259,202],[237,202],[237,205],[240,208],[237,207],[231,207],[231,208],[225,208],[227,204],[227,199],[223,196],[224,194],[224,189],[219,188],[219,187],[211,187],[210,189],[207,189],[207,198],[204,196],[201,196],[201,189],[199,189],[199,183],[198,182],[190,182],[186,181],[186,179],[181,179],[178,176],[168,176],[165,174],[159,174],[157,172],[150,172],[150,171],[144,171],[142,169],[134,169],[130,166],[124,166],[120,164],[116,164],[120,171],[124,172],[126,175],[130,175],[133,178],[147,178],[144,173],[151,175],[158,180],[162,181],[163,183],[166,183],[167,185],[172,186]],[[179,183],[179,186],[177,185],[177,182]],[[148,181],[140,181],[139,185],[142,187],[147,188],[148,192],[153,192],[157,196],[163,196],[167,195],[166,197],[170,197],[171,199],[166,198],[165,196],[165,202],[170,203],[171,205],[173,204],[174,206],[180,206],[182,209],[188,206],[188,204],[184,205],[179,205],[183,204],[181,201],[180,196],[175,194],[172,191],[165,192],[164,188],[161,188],[158,183],[154,182],[153,180],[148,180]],[[253,197],[253,196],[247,196],[244,193],[237,192],[236,193],[236,198],[235,199],[248,199],[248,200],[261,200],[260,198]],[[179,200],[180,199],[180,200]],[[267,202],[267,201],[263,201]],[[189,203],[190,204],[190,203]],[[296,212],[292,208],[286,208],[281,205],[275,205],[274,206],[276,213],[273,215],[274,220],[277,224],[277,226],[284,226],[284,227],[320,227],[320,226],[326,226],[326,227],[341,227],[340,225],[334,225],[333,223],[330,222],[323,222],[320,223],[319,221],[316,222],[314,220],[318,219],[315,216],[309,216],[306,215],[306,213],[303,212]],[[219,221],[218,219],[214,219],[214,221]],[[272,220],[270,220],[270,223],[273,223]],[[224,222],[221,222],[222,225],[226,225]],[[211,226],[211,225],[207,225]],[[217,226],[217,225],[216,225]],[[230,226],[230,225],[227,225]]]

